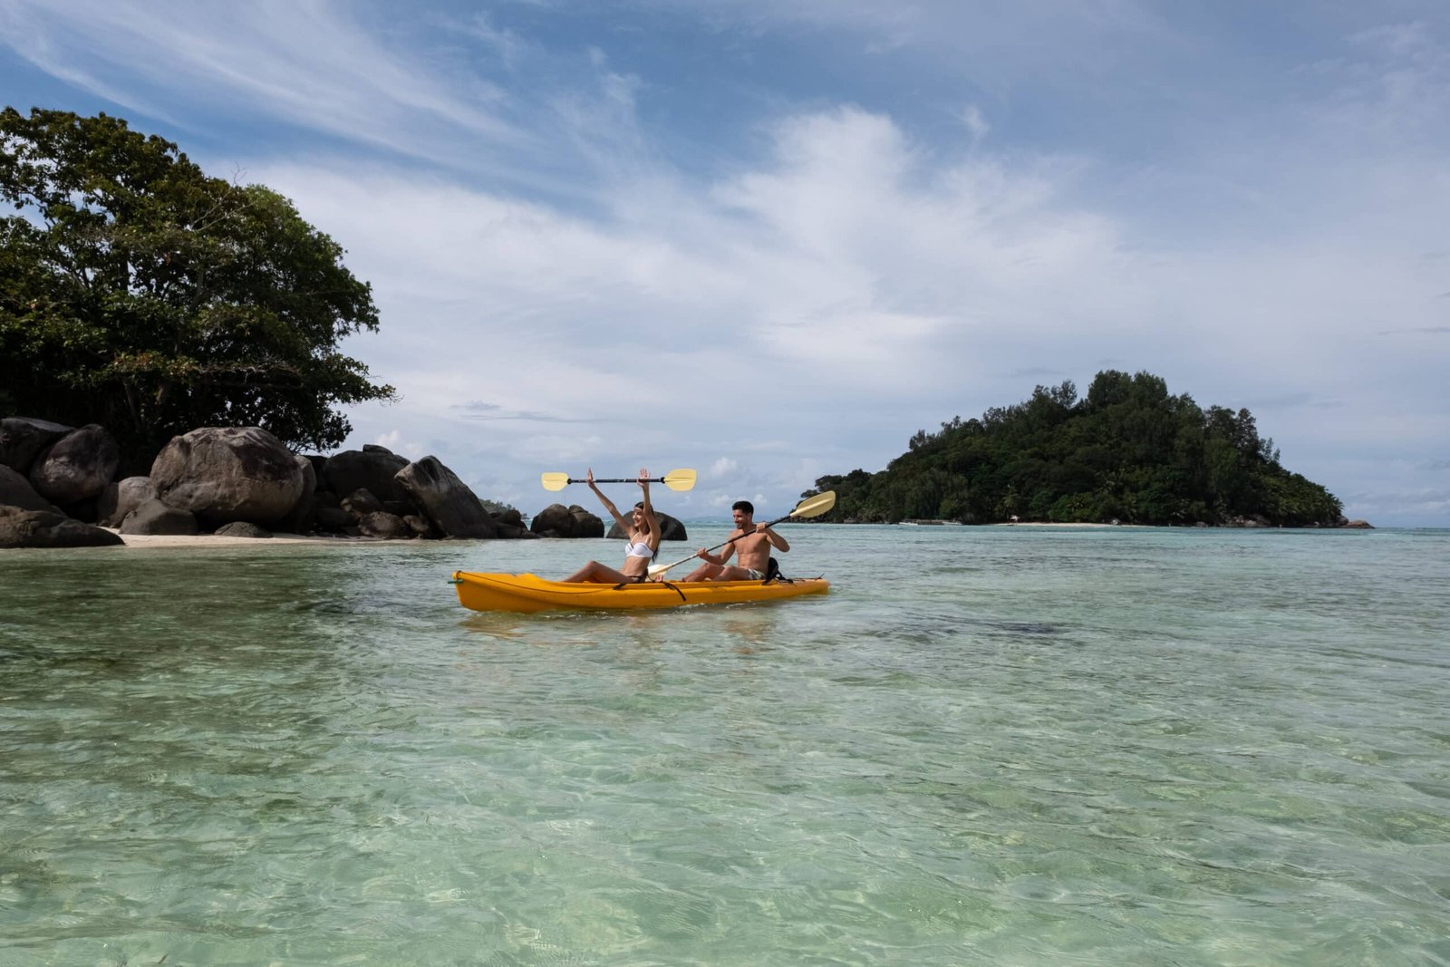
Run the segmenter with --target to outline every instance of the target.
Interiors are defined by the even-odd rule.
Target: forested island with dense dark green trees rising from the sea
[[[835,522],[1341,526],[1343,505],[1279,464],[1253,413],[1199,407],[1151,373],[1099,373],[918,431],[886,470],[815,481]]]

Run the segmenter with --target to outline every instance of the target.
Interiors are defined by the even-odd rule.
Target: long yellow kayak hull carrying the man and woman
[[[458,603],[478,612],[541,612],[579,607],[680,607],[773,602],[800,594],[825,594],[831,583],[819,577],[793,581],[645,581],[642,584],[570,584],[536,574],[454,571]]]

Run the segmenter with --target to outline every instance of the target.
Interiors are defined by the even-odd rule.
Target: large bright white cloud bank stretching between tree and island
[[[374,283],[383,335],[351,349],[399,387],[402,409],[457,425],[444,436],[509,441],[513,461],[709,465],[709,441],[744,422],[767,432],[740,447],[787,431],[779,457],[753,458],[760,468],[811,462],[761,490],[790,506],[821,473],[882,467],[918,426],[1025,397],[1011,373],[1085,389],[1109,358],[1205,404],[1331,386],[1406,447],[1438,432],[1398,413],[1405,393],[1438,399],[1443,358],[1406,358],[1379,333],[1431,328],[1443,303],[1415,294],[1436,277],[1417,281],[1379,213],[1366,222],[1372,255],[1338,235],[1135,251],[1127,220],[1067,200],[1072,164],[934,165],[857,109],[787,120],[779,135],[766,165],[676,203],[687,238],[648,194],[618,199],[631,217],[606,225],[384,171],[257,171]],[[1399,212],[1420,223],[1447,202]],[[478,399],[499,410],[468,422],[457,407]],[[570,432],[545,425],[561,420]],[[1260,426],[1309,448],[1351,431],[1293,410],[1262,412]],[[1322,480],[1312,461],[1295,468]]]

